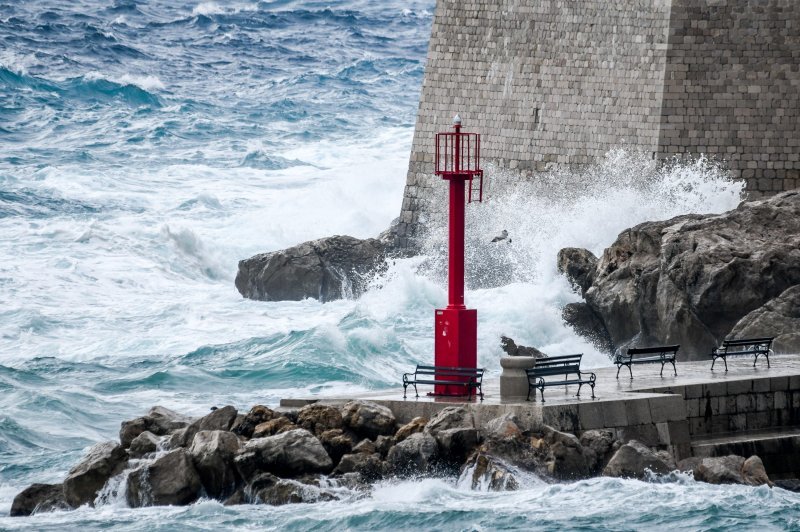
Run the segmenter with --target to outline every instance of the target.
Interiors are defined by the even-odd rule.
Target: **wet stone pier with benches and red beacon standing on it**
[[[581,434],[607,429],[618,439],[637,439],[669,449],[676,459],[690,456],[757,454],[772,478],[800,476],[800,355],[775,355],[771,368],[759,359],[730,359],[729,370],[711,362],[678,363],[659,377],[659,364],[634,366],[630,379],[623,368],[597,368],[595,399],[584,386],[545,390],[545,402],[525,397],[500,397],[499,379],[484,382],[484,401],[473,398],[433,397],[430,386],[420,387],[420,397],[409,388],[392,388],[354,397],[283,399],[281,406],[303,406],[318,401],[341,403],[352,399],[374,401],[392,410],[399,423],[416,416],[430,418],[447,406],[467,406],[477,423],[513,413],[523,428],[541,424]],[[398,381],[400,376],[398,375]]]

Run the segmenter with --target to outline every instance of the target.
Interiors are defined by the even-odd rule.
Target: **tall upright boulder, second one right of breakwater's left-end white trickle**
[[[239,447],[239,438],[232,432],[201,430],[195,435],[189,455],[209,497],[220,499],[236,490],[239,474],[233,459]]]

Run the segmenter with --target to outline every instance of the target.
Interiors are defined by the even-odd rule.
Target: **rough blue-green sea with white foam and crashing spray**
[[[356,300],[255,302],[237,261],[332,234],[375,236],[400,210],[432,0],[0,0],[0,529],[800,529],[800,498],[683,475],[457,478],[269,507],[94,508],[10,518],[120,421],[393,387],[430,361],[445,304],[444,227]],[[487,167],[468,210],[479,359],[499,336],[608,364],[561,321],[579,300],[562,247],[722,212],[741,184],[699,158],[657,168],[620,146],[588,174],[535,182]],[[511,244],[490,246],[507,228]]]

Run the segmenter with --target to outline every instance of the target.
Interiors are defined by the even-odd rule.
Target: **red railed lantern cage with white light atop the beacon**
[[[442,179],[467,179],[467,203],[483,201],[483,170],[480,168],[481,136],[462,133],[461,118],[453,120],[453,132],[436,134],[436,175]]]

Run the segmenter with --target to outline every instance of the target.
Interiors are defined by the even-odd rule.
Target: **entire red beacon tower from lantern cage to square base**
[[[462,133],[458,115],[453,119],[453,130],[436,135],[435,173],[450,182],[450,235],[447,308],[436,309],[435,316],[435,364],[477,368],[478,311],[464,305],[464,211],[466,203],[483,201],[481,137],[477,133]],[[435,387],[437,395],[466,393],[463,386]]]

